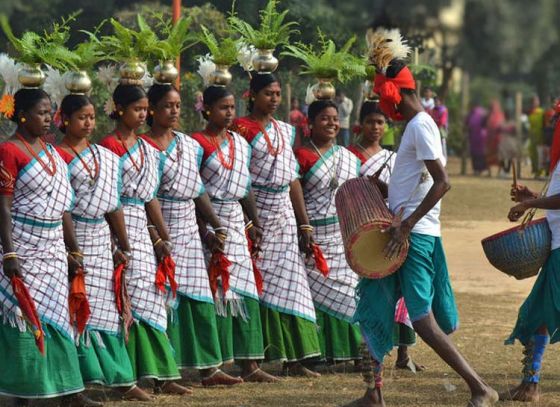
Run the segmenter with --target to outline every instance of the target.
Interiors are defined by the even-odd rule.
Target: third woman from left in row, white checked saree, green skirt
[[[161,225],[161,211],[155,198],[159,186],[159,153],[134,133],[146,120],[148,99],[139,86],[119,85],[113,100],[117,110],[112,117],[117,119],[117,126],[101,145],[120,157],[121,203],[132,248],[126,284],[135,323],[129,333],[128,354],[136,379],[155,379],[156,391],[190,393],[173,381],[181,376],[166,334],[166,297],[155,285],[157,263],[148,218],[160,221],[159,229],[168,240],[163,234],[165,227]],[[167,245],[158,247],[158,258],[161,258]]]

